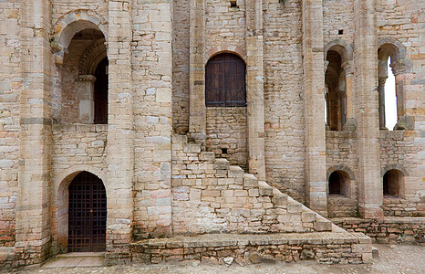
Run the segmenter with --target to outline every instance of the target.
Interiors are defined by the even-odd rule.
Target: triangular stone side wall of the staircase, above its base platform
[[[172,137],[174,234],[330,231],[332,224],[253,174]],[[163,203],[168,199],[161,198]]]

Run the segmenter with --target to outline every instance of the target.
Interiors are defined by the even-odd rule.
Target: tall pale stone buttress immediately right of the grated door
[[[131,1],[109,1],[107,258],[130,259],[134,170]]]

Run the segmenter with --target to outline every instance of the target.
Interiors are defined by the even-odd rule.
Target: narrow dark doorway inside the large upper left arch
[[[95,72],[95,123],[108,123],[108,58],[98,64]]]

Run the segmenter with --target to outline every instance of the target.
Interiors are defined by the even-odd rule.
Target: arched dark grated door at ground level
[[[68,252],[98,252],[106,248],[107,198],[98,176],[78,174],[68,186]]]

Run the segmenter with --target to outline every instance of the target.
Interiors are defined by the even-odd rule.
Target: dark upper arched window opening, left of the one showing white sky
[[[343,58],[331,47],[327,51],[327,71],[325,83],[327,126],[331,131],[342,131],[347,120],[346,74],[342,68]]]

